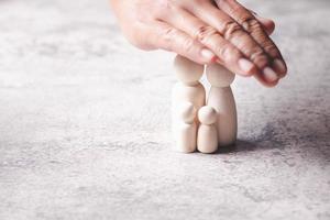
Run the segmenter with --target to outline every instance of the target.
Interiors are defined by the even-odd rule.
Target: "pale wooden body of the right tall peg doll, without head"
[[[227,146],[233,144],[237,140],[238,119],[231,88],[211,87],[207,105],[213,107],[217,111],[216,127],[219,145]]]

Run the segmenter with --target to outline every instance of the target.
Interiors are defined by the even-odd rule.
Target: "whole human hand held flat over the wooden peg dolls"
[[[273,87],[287,73],[270,34],[275,24],[235,0],[110,0],[136,47],[166,50],[199,64],[217,62]]]

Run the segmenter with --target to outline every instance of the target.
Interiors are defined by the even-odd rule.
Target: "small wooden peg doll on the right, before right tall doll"
[[[197,148],[201,153],[210,154],[218,150],[218,133],[215,125],[217,111],[209,106],[202,107],[198,111],[200,121],[197,133]]]

